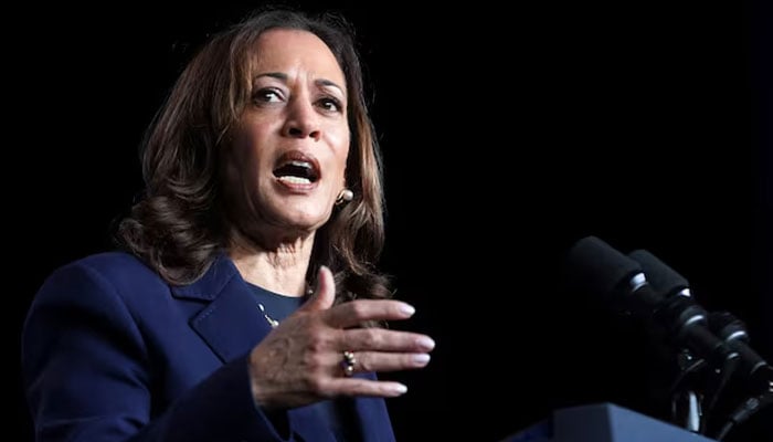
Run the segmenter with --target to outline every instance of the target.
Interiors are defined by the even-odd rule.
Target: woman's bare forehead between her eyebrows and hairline
[[[261,34],[253,59],[255,74],[304,72],[343,86],[345,75],[327,44],[308,31],[273,29]]]

